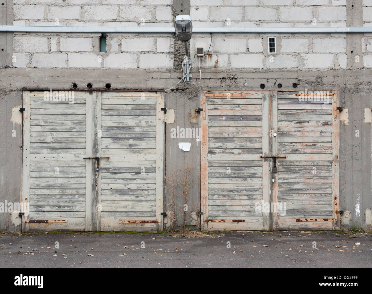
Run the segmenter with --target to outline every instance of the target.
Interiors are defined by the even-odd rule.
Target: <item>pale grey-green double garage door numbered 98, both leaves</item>
[[[163,94],[50,94],[23,97],[22,229],[160,230]]]

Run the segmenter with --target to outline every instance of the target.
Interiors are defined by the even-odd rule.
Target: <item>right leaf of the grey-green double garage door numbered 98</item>
[[[101,229],[161,230],[164,101],[161,94],[102,92]]]

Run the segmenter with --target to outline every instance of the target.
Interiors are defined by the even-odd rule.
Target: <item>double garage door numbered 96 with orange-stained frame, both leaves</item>
[[[338,227],[337,96],[304,97],[201,92],[204,229]]]

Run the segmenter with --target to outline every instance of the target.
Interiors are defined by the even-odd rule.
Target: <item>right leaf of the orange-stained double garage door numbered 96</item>
[[[336,229],[339,114],[336,93],[278,92],[278,229]],[[273,117],[276,120],[275,117]],[[278,223],[276,223],[278,222]]]

